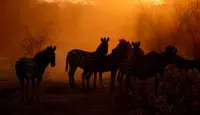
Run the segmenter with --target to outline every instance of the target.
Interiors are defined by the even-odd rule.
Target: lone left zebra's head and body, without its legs
[[[55,46],[50,46],[38,52],[32,59],[26,57],[18,59],[15,64],[17,76],[19,78],[42,77],[49,63],[55,66],[55,49]]]

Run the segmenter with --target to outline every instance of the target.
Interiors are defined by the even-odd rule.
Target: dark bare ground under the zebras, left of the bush
[[[133,115],[128,95],[108,88],[70,89],[66,83],[43,82],[41,101],[20,102],[18,83],[0,84],[1,115]],[[98,86],[99,87],[99,86]]]

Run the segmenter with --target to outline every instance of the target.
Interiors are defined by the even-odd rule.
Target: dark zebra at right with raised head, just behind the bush
[[[158,53],[152,51],[140,58],[132,61],[126,61],[121,63],[120,71],[126,75],[126,83],[130,90],[132,90],[130,77],[138,77],[139,80],[145,81],[149,77],[155,76],[157,73],[162,74],[164,68],[168,64],[174,64],[177,49],[172,45],[168,45],[165,48],[165,52]],[[119,88],[121,90],[122,75],[118,76]],[[155,93],[157,95],[158,79],[155,78]]]

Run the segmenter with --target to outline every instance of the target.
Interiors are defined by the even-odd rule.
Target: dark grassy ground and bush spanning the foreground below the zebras
[[[70,89],[67,83],[44,81],[42,84],[43,100],[30,104],[19,101],[19,91],[15,89],[18,84],[10,82],[0,89],[0,109],[3,115],[139,114],[136,111],[142,111],[145,115],[155,113],[195,115],[200,112],[198,98],[200,96],[200,76],[196,70],[179,71],[170,65],[162,76],[157,77],[167,83],[166,91],[160,90],[161,87],[159,87],[159,97],[154,96],[152,78],[147,80],[146,91],[144,87],[139,87],[139,82],[132,83],[134,89],[139,88],[139,95],[129,95],[118,91],[109,92],[108,88],[81,89],[80,85]],[[108,86],[108,83],[109,80],[104,79],[104,84]]]

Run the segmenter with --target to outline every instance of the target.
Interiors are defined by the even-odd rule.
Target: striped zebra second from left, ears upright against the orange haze
[[[95,52],[87,52],[80,49],[73,49],[68,52],[66,56],[66,67],[65,70],[68,72],[68,65],[70,66],[68,76],[69,76],[69,86],[76,87],[74,81],[74,74],[77,67],[85,69],[90,63],[96,60],[101,60],[108,53],[108,42],[110,38],[101,38],[101,44],[98,46]],[[95,66],[95,65],[93,65]]]

